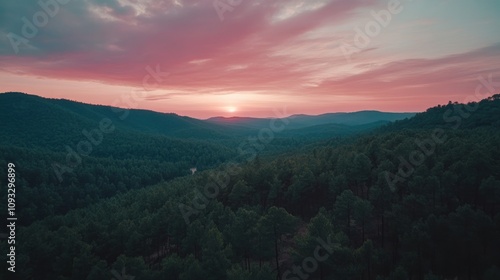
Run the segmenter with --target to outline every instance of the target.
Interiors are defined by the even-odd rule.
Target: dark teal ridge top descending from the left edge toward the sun
[[[109,119],[121,132],[164,135],[178,138],[224,138],[223,127],[204,121],[147,110],[125,110],[110,106],[90,105],[64,99],[48,99],[9,92],[0,94],[0,141],[60,144],[62,138],[81,138],[82,129],[98,128]],[[23,135],[29,132],[30,137]],[[22,138],[18,138],[21,136]]]

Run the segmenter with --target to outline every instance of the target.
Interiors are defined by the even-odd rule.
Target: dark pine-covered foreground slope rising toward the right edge
[[[120,188],[118,195],[64,215],[45,209],[49,217],[19,228],[18,275],[500,279],[499,97],[434,107],[341,142]],[[460,111],[467,108],[475,109]],[[31,151],[12,152],[22,153]],[[27,158],[38,156],[33,153]],[[166,164],[161,157],[148,159]],[[75,192],[85,184],[105,192],[92,179],[100,172],[115,184],[134,176],[140,180],[135,184],[148,184],[148,176],[167,177],[161,172],[170,170],[136,173],[130,168],[140,161],[103,160],[102,169],[89,160],[74,172]],[[33,197],[50,180],[44,176],[35,176]],[[6,250],[5,242],[1,246]],[[5,262],[5,255],[0,259]]]

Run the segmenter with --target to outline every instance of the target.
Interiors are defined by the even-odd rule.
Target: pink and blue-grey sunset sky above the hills
[[[481,80],[500,92],[498,15],[498,0],[6,0],[0,92],[201,119],[419,112],[480,99]]]

